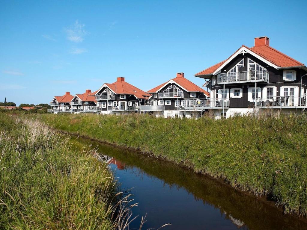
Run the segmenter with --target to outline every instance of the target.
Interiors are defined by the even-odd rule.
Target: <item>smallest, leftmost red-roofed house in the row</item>
[[[66,92],[63,96],[55,96],[50,102],[51,109],[48,109],[48,113],[71,113],[70,101],[73,96]]]

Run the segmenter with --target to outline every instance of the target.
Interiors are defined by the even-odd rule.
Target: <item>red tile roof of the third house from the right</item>
[[[150,94],[147,94],[143,90],[125,82],[125,78],[117,78],[116,82],[112,84],[105,83],[115,94],[131,94],[137,98],[146,99],[150,97]]]

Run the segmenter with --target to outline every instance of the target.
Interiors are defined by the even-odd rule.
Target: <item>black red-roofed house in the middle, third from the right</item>
[[[144,105],[149,97],[150,94],[129,84],[123,77],[118,77],[111,84],[104,83],[95,93],[97,109],[101,114],[140,111],[140,105]]]

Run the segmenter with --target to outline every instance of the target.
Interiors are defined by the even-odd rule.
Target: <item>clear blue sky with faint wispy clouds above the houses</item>
[[[0,101],[49,103],[122,76],[149,90],[242,44],[307,63],[303,1],[1,1]]]

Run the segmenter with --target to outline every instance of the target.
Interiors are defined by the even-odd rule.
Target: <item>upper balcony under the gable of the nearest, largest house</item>
[[[217,75],[218,84],[269,82],[269,72],[266,70],[242,71]]]

